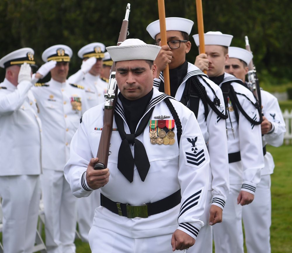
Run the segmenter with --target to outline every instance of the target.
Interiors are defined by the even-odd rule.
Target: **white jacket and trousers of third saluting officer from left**
[[[84,86],[89,108],[105,103],[105,92],[107,91],[107,82],[100,78],[100,75],[94,76],[87,72],[83,74],[81,70],[68,78],[73,84]],[[92,227],[94,210],[100,206],[100,193],[94,191],[87,198],[77,199],[77,221],[78,230],[82,241],[88,242],[88,233]]]

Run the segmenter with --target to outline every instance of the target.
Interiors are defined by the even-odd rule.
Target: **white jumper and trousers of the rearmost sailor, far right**
[[[272,123],[272,130],[263,136],[263,147],[283,144],[286,132],[285,122],[276,97],[267,91],[260,91],[263,115]],[[265,152],[265,148],[264,148]],[[245,244],[248,253],[270,253],[271,226],[271,174],[274,160],[271,153],[264,155],[265,167],[261,170],[260,183],[256,188],[253,202],[242,209]]]

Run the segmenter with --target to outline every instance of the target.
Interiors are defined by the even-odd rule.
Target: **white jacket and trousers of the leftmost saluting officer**
[[[0,84],[0,196],[5,253],[30,253],[36,237],[41,185],[41,122],[23,81]]]

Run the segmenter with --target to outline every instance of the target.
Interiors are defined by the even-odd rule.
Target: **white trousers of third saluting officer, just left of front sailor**
[[[93,224],[94,211],[99,206],[99,190],[94,190],[88,197],[77,198],[78,230],[83,242],[88,242],[88,233]]]

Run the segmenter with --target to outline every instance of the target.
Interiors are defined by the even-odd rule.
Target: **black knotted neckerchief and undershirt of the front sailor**
[[[126,134],[123,119],[117,112],[114,112],[115,122],[122,139],[118,153],[118,169],[130,183],[133,182],[134,163],[136,164],[138,173],[143,182],[145,181],[150,168],[150,163],[145,147],[141,141],[136,139],[136,137],[143,133],[154,110],[153,106],[142,118],[146,107],[152,98],[152,94],[153,89],[143,98],[131,101],[124,98],[121,93],[118,95],[124,108],[127,124],[131,129],[131,134]],[[137,131],[135,132],[140,119],[141,122],[137,128]],[[134,157],[131,152],[130,144],[134,145]]]

